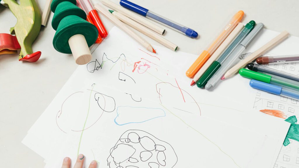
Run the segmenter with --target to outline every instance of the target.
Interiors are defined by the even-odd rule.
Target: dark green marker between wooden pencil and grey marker
[[[234,51],[234,49],[245,39],[245,37],[251,32],[254,28],[255,22],[251,20],[249,23],[245,25],[243,30],[239,33],[239,35],[234,39],[234,41],[229,45],[229,47],[224,51],[224,53],[214,61],[210,67],[205,71],[202,77],[196,82],[197,87],[203,88],[208,83],[210,78],[216,73],[216,71],[220,68],[221,64],[226,60],[226,58]]]

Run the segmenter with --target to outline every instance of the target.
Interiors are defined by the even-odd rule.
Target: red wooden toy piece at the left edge
[[[1,54],[15,54],[17,50],[21,49],[16,36],[0,33],[0,55]]]

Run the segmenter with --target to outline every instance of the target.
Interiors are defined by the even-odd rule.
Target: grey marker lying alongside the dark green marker
[[[223,75],[235,64],[239,62],[238,57],[243,53],[243,51],[248,47],[252,40],[263,30],[264,24],[258,23],[254,29],[245,37],[245,39],[234,49],[233,52],[227,57],[227,59],[221,64],[221,67],[213,75],[213,77],[205,85],[205,89],[210,90],[213,88],[223,77]]]

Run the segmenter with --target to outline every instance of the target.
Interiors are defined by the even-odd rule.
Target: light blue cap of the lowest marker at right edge
[[[275,85],[265,83],[265,82],[261,82],[261,81],[258,81],[258,80],[254,80],[254,79],[250,80],[249,85],[252,88],[256,88],[256,89],[266,91],[266,92],[269,92],[269,93],[272,93],[272,94],[277,94],[277,95],[280,95],[281,90],[282,90],[282,87],[280,87],[280,86],[275,86]]]

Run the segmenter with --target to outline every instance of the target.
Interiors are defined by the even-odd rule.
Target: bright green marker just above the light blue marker
[[[270,75],[262,74],[262,73],[251,71],[251,70],[244,69],[244,68],[240,69],[239,74],[242,77],[246,77],[249,79],[254,79],[254,80],[261,81],[261,82],[270,83],[272,85],[279,85],[282,87],[299,90],[299,82],[293,81],[293,80],[288,80],[286,78],[270,76]]]

